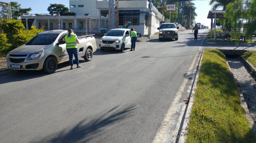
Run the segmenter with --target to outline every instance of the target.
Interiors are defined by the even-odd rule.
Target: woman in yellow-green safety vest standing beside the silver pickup
[[[78,49],[77,49],[77,44],[79,44],[79,40],[77,38],[77,35],[73,33],[72,29],[68,29],[68,35],[65,36],[65,43],[66,43],[66,50],[68,53],[69,57],[69,63],[71,66],[71,70],[73,69],[73,54],[75,57],[75,62],[77,64],[77,68],[81,67],[79,65],[79,60],[78,60]]]

